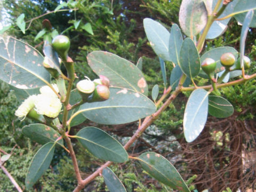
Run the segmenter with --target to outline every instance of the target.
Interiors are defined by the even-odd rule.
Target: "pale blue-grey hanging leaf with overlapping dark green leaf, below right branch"
[[[188,142],[194,141],[203,131],[208,113],[220,118],[234,113],[233,106],[226,99],[209,94],[204,89],[197,89],[188,99],[183,118],[185,139]]]

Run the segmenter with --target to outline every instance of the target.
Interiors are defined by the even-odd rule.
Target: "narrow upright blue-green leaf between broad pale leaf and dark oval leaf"
[[[175,65],[180,65],[180,48],[183,42],[180,28],[177,24],[173,24],[171,28],[171,34],[169,39],[169,57]]]

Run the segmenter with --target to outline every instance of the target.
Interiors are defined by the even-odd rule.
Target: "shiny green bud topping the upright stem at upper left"
[[[68,50],[70,47],[69,38],[65,35],[57,35],[52,39],[52,47],[60,55],[61,59],[67,60]]]

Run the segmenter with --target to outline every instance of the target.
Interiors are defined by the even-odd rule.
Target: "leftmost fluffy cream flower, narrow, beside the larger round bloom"
[[[36,95],[30,95],[25,101],[23,101],[20,107],[15,111],[15,115],[19,118],[25,118],[29,111],[35,107]]]

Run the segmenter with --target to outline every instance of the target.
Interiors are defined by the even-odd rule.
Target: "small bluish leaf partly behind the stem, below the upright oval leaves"
[[[182,70],[177,65],[172,69],[171,77],[170,77],[170,85],[172,87],[172,90],[175,90],[176,87],[179,85],[180,77],[182,75]],[[183,83],[183,87],[187,87],[190,84],[190,78],[187,77],[185,82]]]

